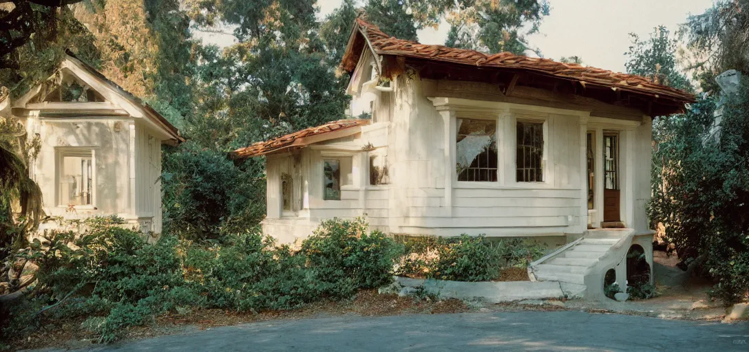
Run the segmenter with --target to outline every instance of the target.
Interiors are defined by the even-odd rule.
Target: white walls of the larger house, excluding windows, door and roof
[[[539,236],[563,242],[569,235],[581,235],[589,222],[603,220],[602,182],[597,182],[595,210],[588,211],[587,206],[588,132],[595,136],[598,176],[603,174],[604,132],[619,134],[621,220],[637,232],[649,230],[645,213],[650,197],[649,117],[591,117],[583,109],[495,102],[480,94],[474,99],[440,96],[445,91],[481,91],[480,83],[401,75],[392,82],[392,92],[375,92],[361,82],[355,74],[349,87],[354,96],[351,105],[360,111],[363,102],[372,102],[373,120],[360,134],[315,143],[294,155],[268,155],[268,211],[263,224],[265,232],[279,241],[306,237],[320,220],[366,214],[371,227],[390,233]],[[461,118],[496,122],[497,182],[457,180],[456,133]],[[543,182],[515,181],[518,120],[544,123]],[[372,155],[386,158],[389,184],[369,184]],[[341,200],[323,200],[325,158],[353,161],[353,181],[342,186]],[[293,211],[282,211],[282,173],[294,178]]]

